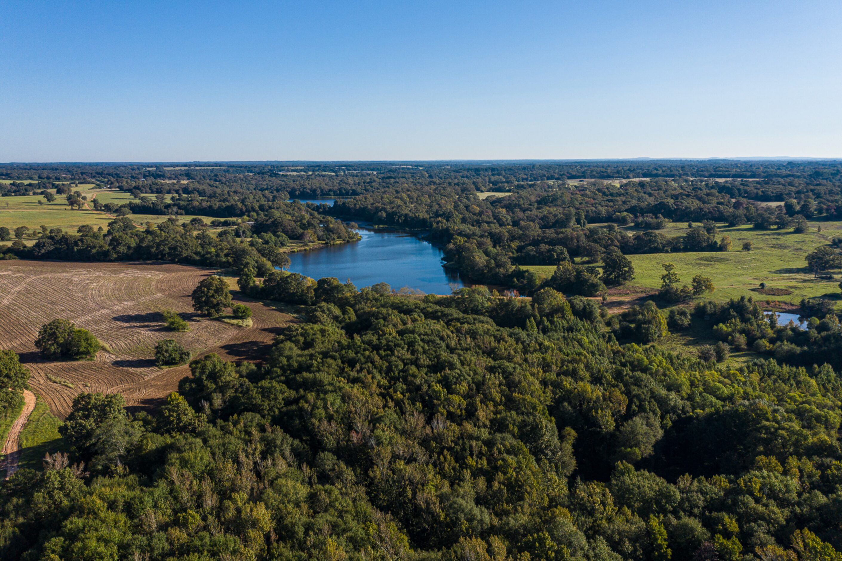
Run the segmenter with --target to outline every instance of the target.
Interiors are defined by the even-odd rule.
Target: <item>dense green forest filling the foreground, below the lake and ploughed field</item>
[[[842,386],[618,345],[587,301],[322,280],[262,366],[83,394],[0,488],[24,559],[837,559]]]

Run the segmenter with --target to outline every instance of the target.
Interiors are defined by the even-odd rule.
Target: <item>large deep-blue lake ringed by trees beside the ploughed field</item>
[[[444,252],[411,233],[360,227],[359,242],[300,251],[290,256],[290,271],[313,279],[335,276],[350,279],[357,288],[386,282],[425,294],[450,294],[450,286],[464,286],[456,271],[442,266]]]

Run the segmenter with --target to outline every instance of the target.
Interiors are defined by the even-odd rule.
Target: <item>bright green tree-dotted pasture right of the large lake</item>
[[[818,232],[818,227],[822,228]],[[624,228],[635,232],[636,228]],[[669,236],[684,235],[686,224],[669,224],[662,230]],[[672,254],[629,255],[635,268],[635,279],[631,284],[658,288],[661,286],[663,268],[670,262],[682,282],[690,284],[694,275],[711,277],[717,291],[706,296],[714,300],[753,296],[758,300],[800,302],[802,297],[825,297],[838,300],[839,272],[832,271],[834,280],[818,280],[807,270],[804,258],[820,245],[830,242],[834,236],[842,236],[842,222],[810,222],[810,231],[803,234],[791,230],[757,230],[750,225],[727,227],[719,225],[717,238],[730,236],[733,242],[728,252],[678,252]],[[752,251],[742,251],[743,242],[751,242]],[[529,266],[541,275],[552,275],[555,267]],[[750,289],[765,282],[769,288],[786,289],[792,293],[786,296],[765,296]]]

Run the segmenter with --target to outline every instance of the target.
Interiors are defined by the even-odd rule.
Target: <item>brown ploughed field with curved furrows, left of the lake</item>
[[[83,392],[119,392],[130,406],[154,406],[189,376],[186,365],[155,366],[157,341],[176,339],[194,357],[216,352],[230,361],[259,361],[292,320],[240,297],[235,300],[253,310],[251,328],[198,317],[190,292],[213,272],[179,264],[0,261],[0,349],[21,355],[29,385],[60,417]],[[190,330],[168,331],[162,310],[182,313]],[[40,326],[55,318],[88,329],[108,350],[93,361],[42,360],[34,341]]]

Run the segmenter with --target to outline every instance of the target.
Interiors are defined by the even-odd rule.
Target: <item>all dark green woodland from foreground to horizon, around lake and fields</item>
[[[659,302],[695,306],[611,314],[592,297],[632,280],[626,255],[727,250],[717,223],[839,219],[838,162],[22,164],[0,177],[0,195],[67,181],[132,195],[107,229],[3,240],[4,259],[203,264],[296,314],[262,361],[190,362],[157,409],[79,394],[67,453],[0,484],[2,559],[842,561],[833,302],[806,299],[810,329],[796,329],[748,297],[708,301],[701,275],[679,286],[669,263]],[[287,202],[319,195],[348,198]],[[353,242],[357,221],[413,229],[467,278],[530,298],[284,270],[290,241]],[[834,244],[807,254],[817,274],[842,264]],[[717,345],[660,345],[691,325]],[[759,358],[724,361],[746,349]],[[26,379],[0,351],[0,408]]]

